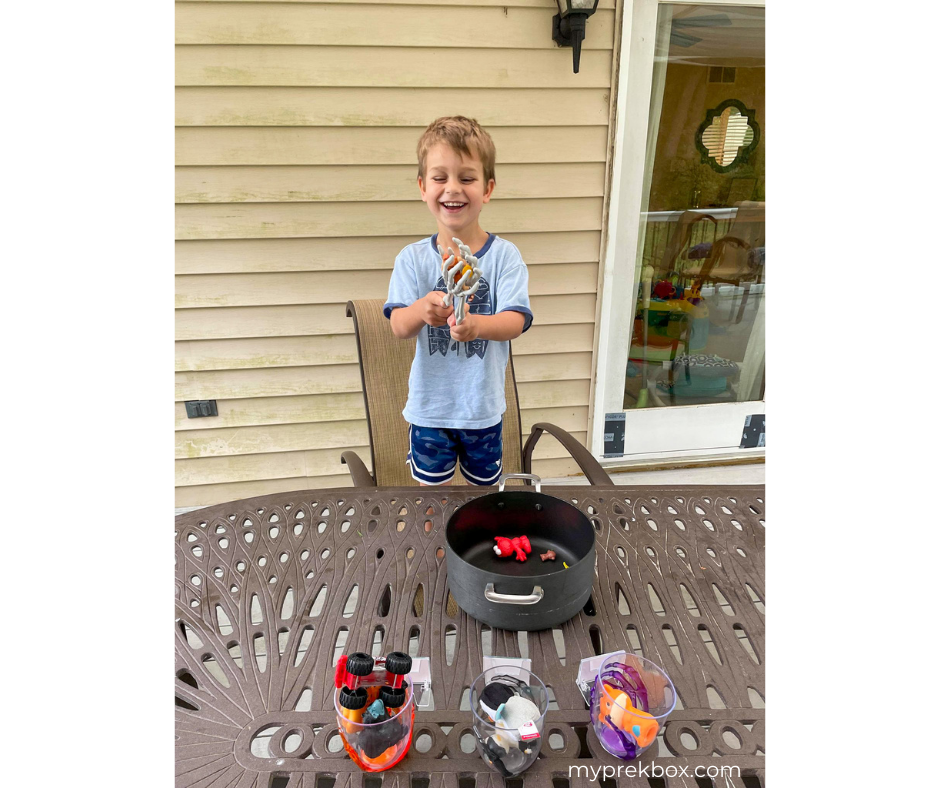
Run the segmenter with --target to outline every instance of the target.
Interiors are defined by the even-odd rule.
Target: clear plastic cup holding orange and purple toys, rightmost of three
[[[601,746],[624,761],[647,750],[676,707],[676,688],[659,665],[618,652],[591,685],[591,722]]]

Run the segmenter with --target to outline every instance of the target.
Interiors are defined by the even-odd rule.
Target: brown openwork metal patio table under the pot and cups
[[[594,780],[569,766],[630,765],[601,748],[574,681],[582,658],[618,649],[675,684],[658,752],[639,763],[680,776],[620,770],[604,788],[765,786],[765,486],[543,491],[591,519],[597,574],[584,611],[530,633],[491,632],[449,597],[444,526],[484,492],[310,490],[176,517],[175,785],[502,788],[461,746],[486,645],[531,658],[555,698],[538,760],[508,788],[587,788]],[[337,748],[333,665],[341,653],[393,650],[430,658],[433,707],[418,710],[399,766],[364,774]],[[740,775],[697,780],[696,766]]]

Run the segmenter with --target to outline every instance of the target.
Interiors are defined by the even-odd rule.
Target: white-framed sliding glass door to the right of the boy
[[[634,0],[625,15],[592,449],[760,453],[766,6]]]

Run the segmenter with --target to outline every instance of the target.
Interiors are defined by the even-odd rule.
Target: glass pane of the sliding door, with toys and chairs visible
[[[766,9],[661,3],[623,407],[766,382]]]

